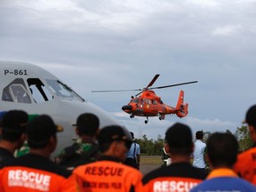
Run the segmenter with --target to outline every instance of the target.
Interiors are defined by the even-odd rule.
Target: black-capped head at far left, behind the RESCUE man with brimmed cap
[[[25,140],[28,114],[23,110],[10,110],[2,119],[2,139],[9,142],[19,142],[20,147]]]

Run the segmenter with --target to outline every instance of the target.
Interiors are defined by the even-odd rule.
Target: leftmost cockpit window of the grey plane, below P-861
[[[19,103],[31,103],[28,90],[23,79],[17,78],[13,80],[11,84],[4,87],[2,100]]]

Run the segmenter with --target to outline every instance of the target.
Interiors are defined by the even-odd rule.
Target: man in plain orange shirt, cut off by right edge
[[[247,110],[244,123],[248,124],[253,148],[238,155],[234,170],[240,177],[256,185],[256,105]]]

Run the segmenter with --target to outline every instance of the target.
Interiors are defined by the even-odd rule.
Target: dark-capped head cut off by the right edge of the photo
[[[248,124],[252,142],[256,143],[256,105],[247,110],[244,123]]]

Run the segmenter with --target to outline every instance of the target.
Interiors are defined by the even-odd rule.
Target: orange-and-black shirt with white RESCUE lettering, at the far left
[[[22,156],[14,159],[0,170],[1,192],[76,191],[76,180],[71,172],[43,156],[26,156],[26,159]],[[26,161],[20,161],[22,158]]]

